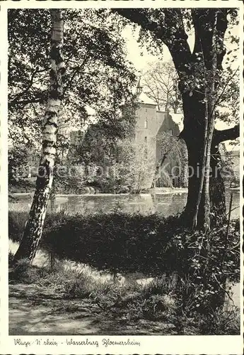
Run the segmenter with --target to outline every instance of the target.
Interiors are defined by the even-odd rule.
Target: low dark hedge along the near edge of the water
[[[13,241],[21,240],[26,218],[25,212],[9,212],[8,231]],[[56,213],[47,214],[40,246],[53,251],[58,258],[88,263],[112,273],[176,272],[195,273],[197,277],[206,268],[205,258],[209,272],[219,273],[221,269],[228,272],[229,278],[238,278],[238,221],[231,223],[229,233],[226,246],[225,226],[211,231],[209,238],[200,231],[182,229],[177,216],[165,219],[159,214]]]

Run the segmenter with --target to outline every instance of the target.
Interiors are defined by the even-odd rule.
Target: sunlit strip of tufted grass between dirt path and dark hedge
[[[59,262],[54,270],[30,266],[28,261],[20,261],[11,269],[10,284],[22,282],[29,288],[37,286],[48,290],[51,295],[58,295],[63,300],[70,300],[62,309],[72,313],[71,300],[79,300],[98,306],[104,317],[123,324],[134,322],[154,322],[168,324],[165,334],[239,334],[240,319],[238,310],[209,309],[201,313],[192,311],[185,314],[182,302],[177,296],[172,278],[156,278],[146,285],[136,282],[120,283],[115,280],[94,279],[88,273],[64,268]],[[76,306],[77,303],[76,303]],[[151,324],[151,323],[150,323]]]

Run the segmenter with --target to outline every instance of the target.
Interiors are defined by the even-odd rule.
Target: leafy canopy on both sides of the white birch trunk
[[[134,70],[126,59],[123,23],[95,9],[64,10],[66,84],[62,120],[83,126],[88,107],[103,119],[131,97]],[[51,33],[47,9],[8,10],[8,120],[10,138],[40,136],[47,99]],[[27,129],[26,129],[27,128]]]

